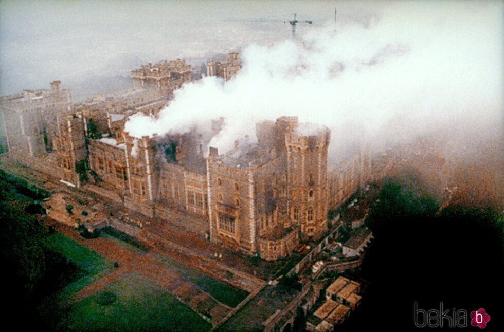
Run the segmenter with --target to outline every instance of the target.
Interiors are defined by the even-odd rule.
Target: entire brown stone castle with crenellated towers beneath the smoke
[[[207,72],[229,80],[240,66],[238,54],[230,53],[227,62],[210,61]],[[223,154],[208,144],[224,119],[204,133],[193,128],[133,137],[124,131],[130,115],[165,107],[190,74],[191,67],[177,59],[133,70],[133,90],[77,104],[59,81],[50,90],[2,97],[9,155],[129,211],[178,223],[264,260],[320,239],[329,227],[328,211],[371,179],[369,156],[355,151],[329,167],[329,128],[297,117],[260,122],[257,142],[241,138]],[[173,211],[186,217],[174,220]]]

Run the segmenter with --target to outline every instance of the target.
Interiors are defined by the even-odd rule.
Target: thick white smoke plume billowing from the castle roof
[[[328,126],[332,151],[363,137],[401,140],[449,127],[501,124],[502,2],[386,3],[364,23],[328,22],[300,40],[250,45],[224,83],[176,91],[158,117],[132,116],[135,137],[184,133],[225,117],[211,146],[228,151],[255,123],[296,115]],[[365,135],[364,135],[365,134]]]

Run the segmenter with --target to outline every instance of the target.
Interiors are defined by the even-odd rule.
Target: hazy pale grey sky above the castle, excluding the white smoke
[[[131,86],[129,71],[162,59],[201,63],[217,53],[291,36],[295,12],[313,26],[334,19],[334,2],[0,1],[0,95],[59,79],[81,100]],[[338,19],[370,15],[368,3],[338,2]],[[371,6],[372,7],[372,6]],[[345,10],[344,8],[349,8]],[[350,10],[351,9],[351,10]],[[299,25],[302,34],[313,26]]]

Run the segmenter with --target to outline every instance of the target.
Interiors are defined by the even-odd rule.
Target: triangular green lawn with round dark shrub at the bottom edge
[[[210,323],[170,293],[136,273],[130,273],[100,292],[75,303],[63,318],[62,324],[61,327],[69,330],[211,329]]]

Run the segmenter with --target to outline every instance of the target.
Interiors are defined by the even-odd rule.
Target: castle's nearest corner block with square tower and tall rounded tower
[[[210,239],[275,260],[327,230],[330,131],[303,133],[297,117],[257,126],[258,142],[207,159]]]

